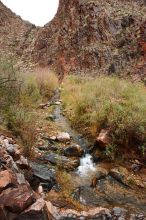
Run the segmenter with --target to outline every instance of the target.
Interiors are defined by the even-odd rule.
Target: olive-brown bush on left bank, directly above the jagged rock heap
[[[7,127],[20,139],[25,156],[33,156],[33,147],[36,141],[36,117],[33,113],[17,106],[11,106],[5,116]]]

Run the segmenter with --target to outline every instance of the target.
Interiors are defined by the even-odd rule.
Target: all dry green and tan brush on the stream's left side
[[[1,121],[21,139],[27,156],[32,156],[36,139],[34,112],[39,103],[51,98],[57,83],[57,77],[49,71],[20,74],[11,62],[0,62]]]

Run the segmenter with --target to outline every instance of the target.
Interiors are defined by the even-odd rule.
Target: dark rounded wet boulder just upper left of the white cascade
[[[67,157],[81,157],[84,154],[79,145],[70,146],[64,149],[64,155]]]

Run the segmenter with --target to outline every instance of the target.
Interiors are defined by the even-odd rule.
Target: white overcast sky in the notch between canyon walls
[[[17,15],[31,23],[44,26],[53,19],[59,0],[1,0]]]

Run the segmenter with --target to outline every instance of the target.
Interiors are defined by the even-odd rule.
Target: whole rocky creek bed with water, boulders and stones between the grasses
[[[0,136],[1,172],[17,177],[1,188],[0,219],[146,219],[146,168],[136,160],[93,162],[92,143],[71,127],[59,92],[42,106],[36,111],[40,124],[34,160],[22,157],[14,139]],[[23,208],[15,188],[24,198]],[[8,210],[7,202],[3,204],[11,201],[9,191],[17,198],[13,202],[19,211],[12,202]]]

